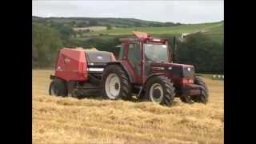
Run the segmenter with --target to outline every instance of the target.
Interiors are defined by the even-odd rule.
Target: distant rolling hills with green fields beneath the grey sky
[[[148,32],[156,36],[181,36],[182,34],[201,32],[210,36],[215,42],[222,42],[224,38],[224,21],[182,24],[145,21],[135,18],[42,18],[32,16],[32,22],[42,23],[47,26],[70,26],[78,33],[75,38],[78,40],[86,40],[91,37],[106,38],[110,36],[131,35],[134,30]],[[107,27],[111,28],[107,29]]]

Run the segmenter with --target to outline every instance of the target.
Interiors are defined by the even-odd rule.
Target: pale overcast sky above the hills
[[[32,1],[39,17],[138,18],[200,23],[224,20],[224,1]]]

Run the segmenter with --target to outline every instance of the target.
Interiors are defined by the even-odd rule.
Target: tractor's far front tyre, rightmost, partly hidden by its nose
[[[192,100],[194,102],[199,102],[199,103],[204,103],[206,104],[208,102],[209,99],[209,90],[206,86],[206,83],[203,82],[202,78],[199,77],[195,77],[195,84],[202,86],[202,90],[201,90],[201,94],[196,95],[194,97],[192,97]]]

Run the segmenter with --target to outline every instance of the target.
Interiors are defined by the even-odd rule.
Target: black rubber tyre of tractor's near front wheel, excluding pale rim
[[[162,75],[154,76],[153,78],[150,78],[148,82],[146,82],[146,94],[142,95],[142,101],[154,102],[152,98],[150,98],[150,87],[156,83],[161,85],[163,90],[163,98],[159,103],[164,106],[172,105],[175,97],[174,84],[170,82],[168,78]]]

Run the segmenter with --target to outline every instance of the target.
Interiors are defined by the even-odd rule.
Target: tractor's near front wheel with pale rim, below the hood
[[[146,94],[142,96],[142,99],[170,106],[174,102],[175,97],[173,85],[165,76],[154,76],[146,82]]]

